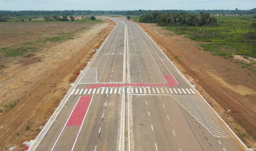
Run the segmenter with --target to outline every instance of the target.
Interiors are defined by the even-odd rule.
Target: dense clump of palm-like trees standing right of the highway
[[[200,12],[199,14],[185,14],[184,12],[175,14],[155,11],[151,14],[141,15],[139,22],[157,23],[159,26],[214,26],[217,24],[217,18],[205,12]]]

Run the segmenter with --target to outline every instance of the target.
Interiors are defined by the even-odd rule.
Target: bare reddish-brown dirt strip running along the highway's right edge
[[[256,148],[256,74],[235,63],[235,58],[224,59],[204,52],[198,42],[184,35],[156,24],[138,24],[238,137],[248,147]]]

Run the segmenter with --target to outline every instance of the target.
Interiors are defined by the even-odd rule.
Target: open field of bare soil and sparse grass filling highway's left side
[[[0,24],[0,49],[26,45],[37,49],[26,48],[22,54],[16,52],[17,56],[0,52],[1,150],[13,146],[14,150],[24,150],[23,142],[36,138],[40,126],[46,124],[70,84],[115,26],[103,20]]]

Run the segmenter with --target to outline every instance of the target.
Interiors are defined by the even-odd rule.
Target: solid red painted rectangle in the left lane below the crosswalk
[[[75,109],[73,110],[71,116],[68,119],[66,126],[77,126],[82,124],[85,114],[88,110],[91,98],[92,96],[80,97],[75,106]]]

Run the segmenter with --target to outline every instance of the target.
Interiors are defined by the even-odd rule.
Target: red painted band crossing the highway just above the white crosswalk
[[[164,75],[165,81],[167,83],[106,83],[106,84],[93,84],[88,85],[85,88],[99,88],[99,87],[175,87],[178,86],[177,81],[172,75]]]

